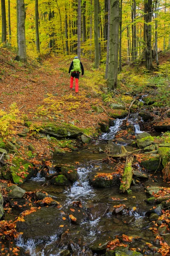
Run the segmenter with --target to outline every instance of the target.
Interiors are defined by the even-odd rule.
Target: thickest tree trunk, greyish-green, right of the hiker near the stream
[[[108,89],[117,87],[119,52],[119,0],[111,0]]]

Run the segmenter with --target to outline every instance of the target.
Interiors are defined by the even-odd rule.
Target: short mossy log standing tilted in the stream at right
[[[120,185],[120,193],[124,193],[127,191],[127,189],[130,188],[130,184],[132,182],[132,176],[133,176],[133,156],[126,158],[126,166],[125,170],[122,175],[121,185]]]

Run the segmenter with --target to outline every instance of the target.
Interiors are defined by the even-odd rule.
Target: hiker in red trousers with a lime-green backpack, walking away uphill
[[[79,74],[81,73],[82,70],[82,77],[84,75],[84,67],[82,65],[82,62],[79,60],[79,58],[76,56],[74,57],[74,60],[71,62],[70,68],[68,73],[71,73],[71,78],[70,78],[70,89],[73,88],[73,80],[75,77],[76,80],[76,86],[75,86],[75,91],[78,93],[79,91]]]

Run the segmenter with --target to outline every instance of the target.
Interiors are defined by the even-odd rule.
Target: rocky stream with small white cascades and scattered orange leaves
[[[134,125],[136,134],[142,132],[137,123],[139,122],[137,114],[131,114],[129,121]],[[116,119],[114,126],[110,127],[110,131],[101,136],[103,139],[111,140],[114,154],[120,152],[121,145],[125,145],[129,151],[133,150],[133,147],[126,145],[125,142],[115,143],[112,141],[122,122],[123,119]],[[54,158],[54,165],[57,166],[63,163],[75,166],[75,162],[79,162],[77,168],[79,180],[71,186],[71,189],[52,184],[43,185],[45,178],[40,173],[37,177],[31,178],[21,185],[26,191],[41,189],[53,195],[62,206],[60,209],[56,206],[41,207],[36,212],[27,215],[25,222],[19,223],[17,228],[19,232],[23,232],[23,235],[20,235],[17,240],[17,246],[21,248],[21,255],[101,255],[105,253],[102,245],[115,239],[116,236],[122,236],[122,234],[141,237],[140,241],[133,242],[132,247],[142,247],[145,242],[154,240],[152,231],[148,229],[150,220],[145,216],[145,212],[150,209],[150,206],[144,202],[144,199],[147,198],[144,186],[153,186],[152,179],[132,186],[131,192],[126,195],[119,194],[119,186],[110,188],[90,186],[88,175],[91,171],[113,172],[114,164],[91,165],[89,163],[91,160],[106,157],[105,153],[99,153],[98,150],[98,148],[105,150],[106,145],[107,143],[98,141],[89,144],[88,149],[66,152],[64,156]],[[163,186],[162,178],[158,177],[157,179],[159,186]],[[113,201],[112,198],[118,200]],[[74,201],[81,202],[82,207],[75,207]],[[111,209],[118,204],[125,204],[128,213],[113,215]],[[136,211],[133,210],[133,207],[136,207]],[[74,215],[77,218],[76,223],[68,220],[67,214]],[[66,217],[66,220],[62,219],[63,216]]]

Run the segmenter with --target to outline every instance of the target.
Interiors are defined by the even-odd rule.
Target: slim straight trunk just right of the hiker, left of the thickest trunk
[[[94,67],[99,67],[99,5],[98,0],[94,0]]]

